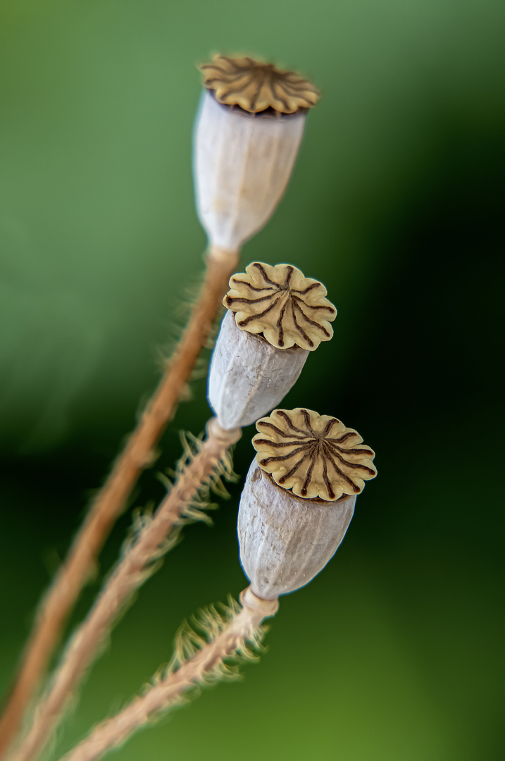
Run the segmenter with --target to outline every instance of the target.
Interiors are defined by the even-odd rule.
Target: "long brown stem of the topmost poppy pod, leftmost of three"
[[[68,615],[91,575],[116,518],[125,508],[142,470],[154,460],[154,447],[173,416],[199,352],[208,339],[237,261],[237,253],[211,248],[199,299],[164,377],[94,499],[65,562],[40,603],[17,678],[0,719],[0,758],[21,724],[27,705],[46,672],[49,658],[59,643]]]

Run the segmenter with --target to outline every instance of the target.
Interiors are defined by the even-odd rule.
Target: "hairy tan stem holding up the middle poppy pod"
[[[46,741],[61,718],[63,708],[78,686],[86,668],[94,660],[113,622],[132,598],[132,594],[153,570],[154,561],[169,547],[170,530],[180,525],[186,508],[216,473],[228,448],[240,438],[240,428],[225,431],[213,418],[208,422],[208,437],[199,452],[180,470],[172,489],[152,518],[145,518],[136,540],[114,569],[90,613],[72,636],[52,683],[37,706],[33,724],[13,761],[31,761],[42,753]]]

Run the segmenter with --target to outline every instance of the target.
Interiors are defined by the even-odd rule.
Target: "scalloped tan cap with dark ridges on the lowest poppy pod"
[[[313,409],[275,409],[256,423],[256,462],[298,497],[335,501],[376,476],[375,453],[354,431]]]

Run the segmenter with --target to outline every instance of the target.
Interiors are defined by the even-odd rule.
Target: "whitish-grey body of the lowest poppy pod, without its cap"
[[[253,460],[240,498],[240,562],[254,594],[272,600],[308,584],[345,537],[355,495],[337,501],[296,497]]]

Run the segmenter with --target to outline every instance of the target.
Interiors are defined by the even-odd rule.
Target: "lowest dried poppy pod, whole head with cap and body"
[[[240,562],[254,594],[273,600],[308,584],[335,554],[373,451],[338,419],[275,409],[256,423],[256,459],[240,498]]]

